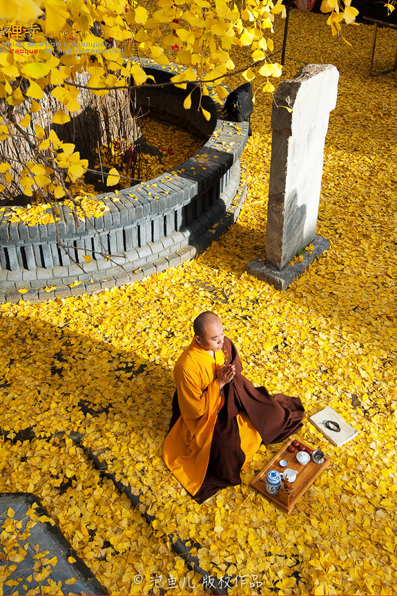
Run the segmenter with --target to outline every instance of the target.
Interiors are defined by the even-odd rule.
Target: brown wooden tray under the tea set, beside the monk
[[[298,459],[296,459],[298,450],[295,450],[294,453],[289,453],[287,451],[287,447],[291,445],[293,439],[295,438],[298,439],[297,437],[289,436],[284,447],[275,454],[273,459],[271,459],[271,461],[269,461],[269,463],[267,463],[267,465],[260,470],[259,474],[257,474],[251,482],[251,486],[253,486],[253,488],[259,492],[262,492],[264,497],[269,499],[269,501],[273,501],[275,505],[287,513],[291,513],[293,508],[296,506],[296,503],[298,503],[300,497],[302,497],[302,494],[304,494],[309,486],[313,484],[316,478],[321,474],[322,470],[328,468],[329,464],[331,463],[331,460],[327,456],[324,457],[324,461],[322,463],[314,463],[313,459],[311,458],[309,463],[306,465],[299,463]],[[302,441],[302,439],[298,439],[298,441],[305,447],[313,449],[313,451],[315,450],[315,448],[309,445],[309,443],[306,443],[306,441]],[[288,462],[288,465],[286,465],[285,468],[282,468],[280,465],[280,459],[285,459]],[[264,488],[267,472],[269,472],[269,470],[277,470],[281,474],[281,472],[284,472],[284,470],[287,470],[287,468],[291,468],[291,470],[297,470],[298,472],[295,482],[292,483],[294,489],[293,501],[291,501],[288,506],[284,505],[284,503],[280,501],[278,494],[269,494],[266,488]]]

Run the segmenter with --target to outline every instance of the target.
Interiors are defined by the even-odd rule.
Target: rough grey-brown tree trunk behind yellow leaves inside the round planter
[[[77,73],[76,82],[82,85],[87,84],[89,76],[88,73]],[[24,79],[21,83],[15,81],[14,87],[19,84],[22,92],[26,92],[27,81]],[[39,124],[44,129],[45,137],[48,137],[50,129],[53,128],[59,139],[75,144],[75,150],[79,151],[81,159],[88,160],[90,169],[95,169],[99,147],[104,144],[108,146],[108,155],[106,156],[106,166],[108,167],[104,171],[116,167],[115,155],[111,151],[112,146],[117,144],[119,151],[124,155],[139,137],[134,110],[131,110],[129,90],[111,90],[108,95],[98,97],[83,88],[77,97],[81,108],[76,113],[69,113],[55,97],[50,95],[52,88],[52,86],[45,88],[44,97],[39,100],[42,109],[30,115],[30,124],[28,128],[25,128],[30,135],[31,143],[24,139],[12,124],[10,124],[10,128],[14,135],[7,138],[6,141],[0,142],[0,161],[11,164],[11,169],[8,172],[13,177],[12,182],[6,184],[6,189],[0,194],[2,204],[26,204],[32,200],[23,194],[20,173],[26,162],[37,162],[36,147],[39,145],[39,140],[35,133],[35,124]],[[59,108],[70,117],[70,122],[51,124],[52,116]],[[19,123],[29,112],[30,102],[25,101],[19,106],[10,106],[5,99],[0,99],[0,109],[1,113],[6,114],[9,123]],[[5,119],[1,117],[0,120],[1,124],[5,124]],[[2,177],[4,176],[0,174],[0,182]],[[32,186],[32,189],[35,189],[35,186]],[[39,190],[39,194],[43,200],[46,199],[44,189]],[[9,201],[12,202],[9,203]]]

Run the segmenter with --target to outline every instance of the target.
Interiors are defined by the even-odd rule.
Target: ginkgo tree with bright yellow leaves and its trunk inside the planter
[[[324,0],[335,34],[357,14],[351,0]],[[122,151],[136,139],[133,90],[148,84],[142,57],[180,65],[171,84],[197,81],[202,95],[233,72],[233,46],[246,46],[242,76],[273,91],[274,15],[281,0],[0,0],[0,193],[18,202],[73,200],[70,184],[95,173],[102,144]],[[153,81],[151,81],[153,83]],[[184,103],[191,108],[191,97]],[[210,115],[201,106],[206,119]],[[114,167],[101,168],[107,185]]]

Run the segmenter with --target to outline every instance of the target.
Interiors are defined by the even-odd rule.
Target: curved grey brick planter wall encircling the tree
[[[156,82],[166,82],[175,74],[171,68],[149,64],[145,68]],[[187,121],[209,137],[191,159],[118,195],[98,195],[110,209],[99,218],[76,223],[70,209],[59,205],[59,237],[73,247],[68,251],[80,267],[57,246],[55,223],[7,223],[1,213],[0,302],[20,300],[18,289],[28,290],[23,300],[48,300],[125,285],[193,258],[235,221],[246,194],[239,157],[248,124],[221,120],[219,104],[204,96],[202,106],[211,113],[207,122],[197,110],[198,88],[193,90],[191,109],[185,110],[183,102],[191,88],[193,84],[187,90],[173,86],[137,90],[142,108]],[[215,223],[218,226],[211,233]],[[92,252],[104,249],[111,260]],[[89,263],[86,255],[92,256]],[[70,287],[76,280],[81,283]]]

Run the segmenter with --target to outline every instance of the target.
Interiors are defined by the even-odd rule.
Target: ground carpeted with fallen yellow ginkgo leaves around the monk
[[[204,570],[234,577],[231,593],[397,593],[397,94],[394,81],[367,76],[371,27],[351,26],[349,48],[326,19],[293,11],[287,46],[289,75],[299,61],[340,71],[318,221],[331,248],[304,276],[279,292],[244,273],[265,239],[270,99],[258,92],[246,202],[211,249],[97,296],[1,306],[0,490],[34,492],[112,594],[209,593],[164,534],[195,542]],[[383,70],[396,32],[378,39]],[[331,405],[358,429],[335,448],[304,420],[299,436],[332,462],[289,516],[249,486],[281,445],[262,446],[242,485],[202,506],[164,465],[173,365],[206,309],[255,384],[299,395],[308,414]],[[28,427],[35,438],[12,444]],[[142,495],[151,527],[87,450]]]

